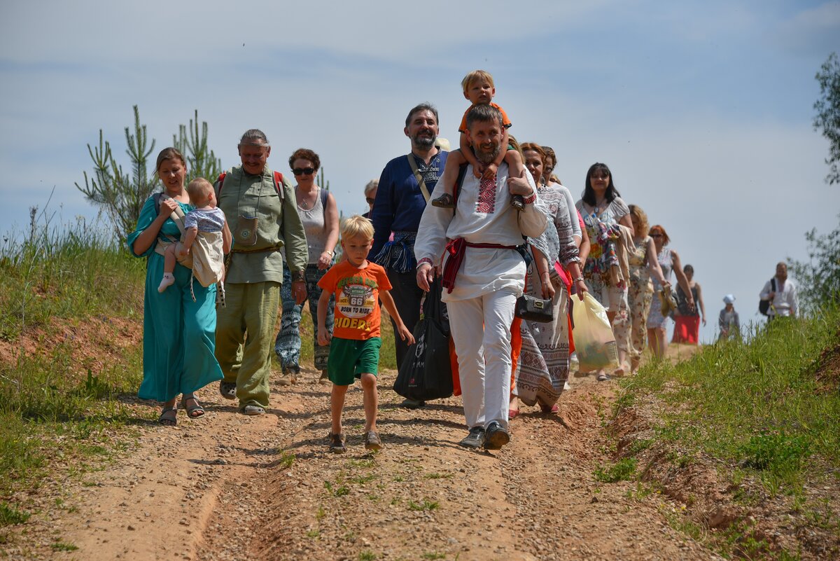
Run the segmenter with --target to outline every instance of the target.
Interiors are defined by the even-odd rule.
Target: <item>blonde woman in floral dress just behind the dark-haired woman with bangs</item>
[[[638,370],[644,348],[647,346],[647,322],[651,302],[654,301],[654,283],[651,273],[659,281],[659,286],[670,286],[659,266],[654,239],[648,236],[650,225],[648,215],[638,205],[630,205],[630,220],[633,222],[633,244],[629,256],[630,283],[627,290],[627,303],[630,307],[630,371]]]

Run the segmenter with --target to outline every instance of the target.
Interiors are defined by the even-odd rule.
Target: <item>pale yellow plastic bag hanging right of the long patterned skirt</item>
[[[575,352],[581,372],[618,368],[618,347],[612,334],[606,310],[589,292],[583,301],[574,299],[572,319],[575,322]]]

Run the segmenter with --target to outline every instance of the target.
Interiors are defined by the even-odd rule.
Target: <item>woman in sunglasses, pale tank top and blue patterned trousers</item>
[[[305,273],[307,284],[307,298],[309,300],[309,312],[312,313],[312,341],[315,351],[315,369],[321,370],[321,380],[327,380],[327,359],[329,357],[329,345],[318,344],[318,298],[321,297],[321,289],[318,281],[333,266],[335,247],[339,243],[339,208],[335,203],[332,193],[318,186],[316,175],[321,166],[321,159],[310,149],[299,148],[289,157],[291,173],[295,176],[295,198],[297,200],[297,213],[301,217],[303,228],[307,233],[307,247],[309,249],[309,261]],[[280,385],[289,385],[297,381],[297,375],[301,370],[301,312],[303,304],[295,303],[291,291],[287,286],[290,278],[290,271],[283,265],[283,284],[281,285],[281,297],[283,300],[283,315],[280,322],[280,333],[274,345],[277,358],[283,369],[283,377],[279,380]],[[327,308],[326,327],[330,334],[333,333],[333,307],[331,298]]]

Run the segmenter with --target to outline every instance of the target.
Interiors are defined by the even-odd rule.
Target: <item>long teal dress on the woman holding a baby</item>
[[[192,205],[178,202],[185,213]],[[170,401],[179,394],[191,394],[205,385],[222,380],[222,369],[213,354],[216,348],[216,286],[192,283],[196,301],[190,295],[192,270],[175,266],[175,284],[165,291],[157,287],[163,278],[163,255],[155,244],[143,254],[134,253],[134,240],[155,222],[155,202],[150,197],[140,211],[137,229],[129,234],[129,251],[148,258],[143,297],[143,382],[137,395],[142,399]],[[160,228],[177,239],[181,233],[171,218]]]

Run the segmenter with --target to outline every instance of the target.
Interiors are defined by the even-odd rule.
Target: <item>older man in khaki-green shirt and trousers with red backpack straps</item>
[[[234,234],[224,282],[226,305],[218,309],[216,323],[216,358],[224,375],[219,391],[227,399],[238,398],[245,415],[261,415],[268,406],[283,282],[281,249],[291,270],[291,293],[298,304],[306,299],[306,233],[294,187],[266,165],[270,153],[262,131],[246,131],[239,141],[242,165],[215,184],[218,207]]]

